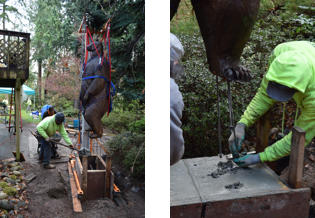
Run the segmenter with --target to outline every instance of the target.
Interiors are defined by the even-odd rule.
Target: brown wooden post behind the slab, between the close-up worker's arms
[[[256,152],[262,152],[268,146],[270,124],[270,110],[266,112],[257,122],[256,129]]]

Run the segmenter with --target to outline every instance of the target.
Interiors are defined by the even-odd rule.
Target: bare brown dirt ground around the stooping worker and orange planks
[[[117,206],[110,199],[89,200],[82,202],[82,213],[74,213],[67,168],[67,157],[71,150],[59,146],[58,153],[62,159],[58,161],[61,163],[55,164],[56,169],[44,169],[38,162],[37,140],[26,130],[29,128],[35,129],[35,125],[29,124],[23,128],[23,134],[29,135],[27,137],[29,154],[26,155],[28,157],[23,165],[25,176],[34,174],[36,178],[27,187],[29,207],[23,214],[24,217],[144,217],[144,191],[134,189],[123,193],[126,200],[124,205]],[[72,138],[72,141],[75,139]]]

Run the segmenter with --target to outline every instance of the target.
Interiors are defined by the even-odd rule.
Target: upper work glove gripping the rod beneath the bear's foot
[[[236,136],[236,140],[232,132],[229,138],[229,148],[232,154],[238,154],[242,148],[242,143],[245,138],[245,124],[244,123],[238,123],[235,126],[235,136]]]

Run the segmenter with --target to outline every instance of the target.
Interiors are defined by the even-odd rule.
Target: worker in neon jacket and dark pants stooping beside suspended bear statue
[[[53,169],[56,167],[49,163],[51,158],[51,147],[49,140],[53,138],[53,136],[56,134],[56,131],[60,133],[60,135],[69,145],[69,147],[73,148],[72,142],[63,125],[64,120],[65,120],[64,114],[58,112],[57,114],[49,116],[42,120],[36,127],[38,133],[41,136],[39,138],[39,141],[42,145],[40,150],[40,156],[43,157],[43,166],[46,169]]]

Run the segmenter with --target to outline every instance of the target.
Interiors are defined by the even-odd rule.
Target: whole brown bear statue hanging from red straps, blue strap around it
[[[103,57],[103,46],[96,41],[95,46],[90,43],[87,50],[92,52],[82,74],[80,101],[83,107],[83,116],[93,130],[91,138],[102,137],[102,117],[108,111],[109,103],[109,63]]]

